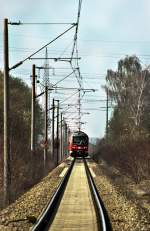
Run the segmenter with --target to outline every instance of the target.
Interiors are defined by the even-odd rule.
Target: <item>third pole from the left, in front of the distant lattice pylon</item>
[[[45,142],[44,142],[44,170],[46,169],[47,148],[48,148],[48,86],[45,86]]]

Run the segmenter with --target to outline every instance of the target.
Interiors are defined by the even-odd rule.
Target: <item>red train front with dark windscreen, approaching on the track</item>
[[[69,152],[72,157],[88,156],[88,135],[84,132],[74,132],[70,139]]]

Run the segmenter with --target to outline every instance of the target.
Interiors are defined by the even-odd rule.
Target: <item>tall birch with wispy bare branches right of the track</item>
[[[150,76],[148,70],[142,70],[136,56],[126,57],[118,62],[117,71],[108,70],[106,88],[110,99],[115,104],[115,113],[110,121],[116,130],[117,123],[121,134],[135,135],[135,131],[142,130],[143,118],[147,107],[147,95]],[[114,126],[115,124],[115,126]]]

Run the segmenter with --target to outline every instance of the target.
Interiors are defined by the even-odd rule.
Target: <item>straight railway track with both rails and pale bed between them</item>
[[[86,159],[74,159],[32,231],[111,231]]]

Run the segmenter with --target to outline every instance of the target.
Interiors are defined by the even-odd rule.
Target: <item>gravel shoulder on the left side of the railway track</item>
[[[22,195],[13,204],[0,211],[0,231],[26,231],[38,218],[56,191],[60,181],[60,173],[67,165],[63,163],[51,171],[43,180]]]

